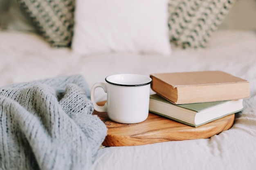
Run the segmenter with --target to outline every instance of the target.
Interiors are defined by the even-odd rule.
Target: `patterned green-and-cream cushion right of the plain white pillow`
[[[169,0],[171,42],[183,48],[206,47],[236,0]]]

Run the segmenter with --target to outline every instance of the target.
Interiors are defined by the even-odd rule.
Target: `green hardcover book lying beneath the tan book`
[[[193,104],[172,104],[163,97],[150,95],[149,111],[189,126],[197,127],[243,110],[243,99],[204,102]]]

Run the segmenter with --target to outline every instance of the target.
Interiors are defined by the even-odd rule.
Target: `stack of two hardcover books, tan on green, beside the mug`
[[[249,82],[222,71],[155,73],[149,111],[197,127],[244,109]]]

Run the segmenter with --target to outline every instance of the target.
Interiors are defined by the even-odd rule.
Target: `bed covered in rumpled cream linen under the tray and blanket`
[[[188,48],[187,44],[183,43],[181,48],[179,42],[171,42],[171,50],[166,51],[168,55],[155,51],[137,53],[136,50],[101,53],[87,51],[83,54],[83,48],[77,50],[79,53],[74,53],[70,47],[52,47],[45,37],[34,31],[2,29],[0,86],[81,75],[90,89],[94,83],[104,82],[106,76],[116,73],[150,75],[164,72],[225,71],[247,79],[250,83],[250,97],[244,99],[243,103],[245,109],[236,113],[234,125],[229,130],[209,139],[141,146],[101,146],[88,167],[95,170],[255,169],[256,31],[218,29],[211,33],[205,47]],[[95,99],[97,102],[104,101],[106,94],[101,90],[96,91]],[[2,160],[0,157],[0,167],[8,169],[4,168]],[[58,166],[53,169],[58,169]]]

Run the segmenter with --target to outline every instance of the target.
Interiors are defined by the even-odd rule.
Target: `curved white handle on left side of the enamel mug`
[[[95,83],[93,86],[92,86],[92,89],[91,89],[91,101],[92,101],[92,104],[94,106],[94,109],[97,110],[98,112],[107,112],[107,103],[104,104],[104,106],[99,106],[97,105],[97,103],[95,102],[95,99],[94,99],[94,92],[95,92],[95,89],[97,87],[101,87],[103,88],[104,92],[107,93],[107,84],[106,83]]]

